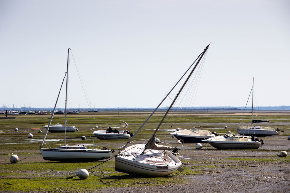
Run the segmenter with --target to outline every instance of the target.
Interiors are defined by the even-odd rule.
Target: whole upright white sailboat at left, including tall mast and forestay
[[[66,105],[65,105],[65,120],[66,120],[66,113],[67,113],[67,94],[68,94],[68,67],[69,67],[69,56],[70,56],[70,49],[68,49],[68,63],[67,63],[67,71],[64,76],[66,77]],[[61,83],[61,87],[64,83],[64,79]],[[61,87],[59,90],[59,94],[61,91]],[[53,109],[52,115],[50,117],[49,124],[47,126],[46,133],[42,140],[39,150],[41,151],[41,155],[43,159],[50,160],[50,161],[60,161],[60,162],[92,162],[98,161],[102,159],[107,159],[111,157],[111,150],[104,147],[103,149],[89,149],[84,144],[78,145],[64,145],[58,148],[43,148],[42,146],[45,144],[45,139],[47,136],[48,131],[50,130],[50,124],[55,114],[55,109],[57,106],[57,101],[59,98],[59,94],[57,96],[57,100],[55,103],[55,107]],[[66,123],[64,124],[64,144],[66,144]],[[47,145],[47,144],[46,144]]]

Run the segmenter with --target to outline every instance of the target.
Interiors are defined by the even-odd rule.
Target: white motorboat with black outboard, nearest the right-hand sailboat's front
[[[257,137],[238,135],[233,131],[228,131],[224,136],[211,137],[202,141],[208,142],[217,149],[258,149],[264,144],[264,141]]]

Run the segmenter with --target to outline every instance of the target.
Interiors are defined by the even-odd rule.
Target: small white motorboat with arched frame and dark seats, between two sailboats
[[[126,122],[123,121],[122,123],[124,124],[124,126],[123,129],[120,131],[118,129],[121,129],[121,127],[109,127],[107,130],[103,129],[94,131],[93,134],[98,139],[129,139],[131,136],[133,136],[133,133],[130,133],[126,129],[128,125]]]

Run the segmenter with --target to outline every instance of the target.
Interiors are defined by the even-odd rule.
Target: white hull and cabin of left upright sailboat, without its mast
[[[86,149],[83,145],[79,149],[66,149],[66,146],[61,146],[51,149],[40,148],[40,151],[43,159],[61,162],[92,162],[111,157],[111,150]]]

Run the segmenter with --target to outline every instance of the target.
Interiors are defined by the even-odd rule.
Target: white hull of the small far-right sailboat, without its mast
[[[275,129],[263,129],[263,127],[255,126],[250,128],[238,128],[238,133],[240,135],[250,135],[250,136],[256,136],[256,137],[265,137],[265,136],[271,136],[271,135],[278,135],[278,131]]]

